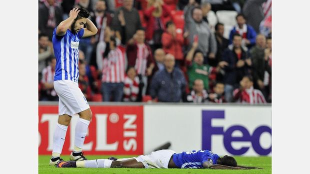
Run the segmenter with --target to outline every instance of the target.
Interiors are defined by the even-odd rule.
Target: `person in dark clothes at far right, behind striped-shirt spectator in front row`
[[[266,93],[264,91],[264,73],[266,69],[266,63],[265,63],[265,48],[266,48],[266,37],[263,34],[258,34],[256,36],[256,44],[253,46],[249,53],[250,58],[252,61],[252,74],[253,74],[253,80],[254,80],[254,87],[258,88],[262,91],[264,96],[266,96]]]

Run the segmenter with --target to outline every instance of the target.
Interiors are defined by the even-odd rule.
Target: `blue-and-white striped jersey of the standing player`
[[[55,80],[69,79],[78,80],[78,44],[79,38],[84,34],[84,29],[77,33],[72,33],[69,29],[64,35],[56,35],[53,31],[52,44],[56,57]]]

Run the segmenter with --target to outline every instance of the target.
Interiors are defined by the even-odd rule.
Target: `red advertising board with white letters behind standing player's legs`
[[[83,151],[87,154],[142,154],[143,106],[90,106],[92,119]],[[51,154],[53,132],[58,120],[57,105],[39,105],[39,154]],[[68,126],[62,154],[74,146],[74,130],[78,115]]]

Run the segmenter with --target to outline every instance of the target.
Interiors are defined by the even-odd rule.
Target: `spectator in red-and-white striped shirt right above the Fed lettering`
[[[245,75],[240,81],[240,87],[233,91],[233,99],[240,103],[266,103],[260,90],[253,88],[253,79]]]

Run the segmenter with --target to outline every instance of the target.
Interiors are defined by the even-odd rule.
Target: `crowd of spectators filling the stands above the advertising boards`
[[[38,3],[39,100],[58,100],[52,31],[83,7],[98,28],[79,42],[87,101],[271,102],[271,0]]]

